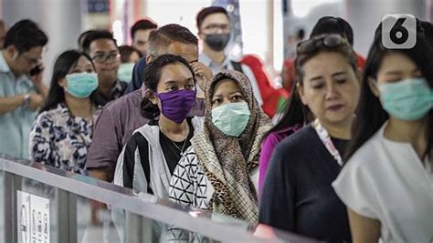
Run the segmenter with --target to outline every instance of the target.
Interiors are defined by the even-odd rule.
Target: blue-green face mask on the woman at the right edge
[[[382,106],[389,116],[415,121],[426,116],[433,106],[433,91],[426,78],[407,78],[378,87]]]

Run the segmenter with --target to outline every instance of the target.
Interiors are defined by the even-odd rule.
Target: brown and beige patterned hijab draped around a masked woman
[[[214,88],[226,78],[238,84],[251,112],[248,126],[239,137],[225,135],[212,122]],[[205,105],[205,129],[191,143],[215,189],[210,207],[234,218],[257,222],[258,197],[249,173],[259,167],[260,142],[271,127],[269,117],[254,98],[248,77],[238,71],[224,70],[214,77],[206,89]]]

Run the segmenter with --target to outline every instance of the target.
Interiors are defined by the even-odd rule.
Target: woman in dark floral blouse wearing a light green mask
[[[84,174],[98,107],[95,67],[84,53],[69,50],[58,56],[45,105],[30,133],[35,162]]]

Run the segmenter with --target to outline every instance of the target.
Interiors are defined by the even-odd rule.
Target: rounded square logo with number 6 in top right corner
[[[382,45],[388,49],[410,49],[417,44],[414,15],[385,15],[382,18]]]

